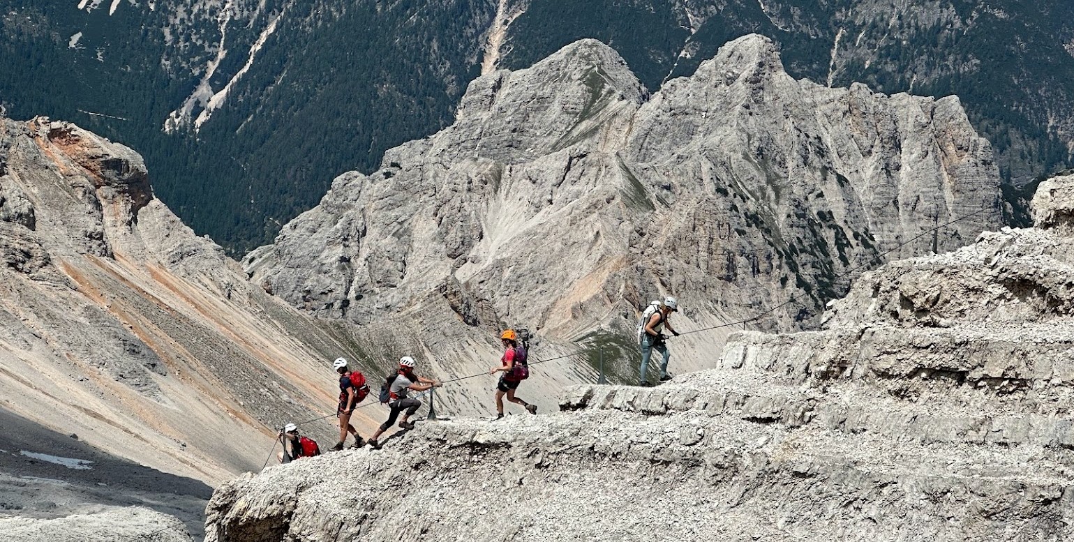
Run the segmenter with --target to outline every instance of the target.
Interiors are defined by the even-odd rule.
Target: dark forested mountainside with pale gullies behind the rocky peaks
[[[384,150],[449,124],[482,69],[596,38],[656,90],[758,32],[795,77],[961,97],[1016,201],[1016,186],[1070,165],[1069,12],[1055,1],[6,0],[0,102],[140,149],[164,201],[241,254],[335,175],[369,173]],[[161,131],[172,118],[186,135]]]

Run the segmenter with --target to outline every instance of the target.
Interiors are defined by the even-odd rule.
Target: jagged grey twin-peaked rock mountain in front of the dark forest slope
[[[664,294],[686,307],[683,328],[798,294],[759,322],[795,328],[845,291],[836,275],[997,226],[998,186],[955,97],[796,80],[759,35],[649,96],[583,40],[479,77],[452,126],[339,176],[243,264],[293,306],[360,324],[431,329],[444,322],[430,299],[473,299],[491,311],[451,305],[469,326],[567,338],[627,325]]]

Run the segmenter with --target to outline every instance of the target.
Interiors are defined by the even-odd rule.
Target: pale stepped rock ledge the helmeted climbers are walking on
[[[1064,540],[1071,202],[1042,184],[1039,228],[887,264],[715,369],[240,478],[206,540]]]

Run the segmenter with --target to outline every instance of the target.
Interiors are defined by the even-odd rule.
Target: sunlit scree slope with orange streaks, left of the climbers
[[[133,150],[0,117],[4,409],[216,482],[260,468],[272,427],[331,409],[346,353],[185,226]]]

